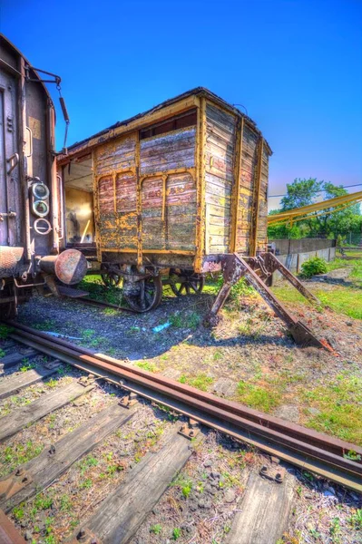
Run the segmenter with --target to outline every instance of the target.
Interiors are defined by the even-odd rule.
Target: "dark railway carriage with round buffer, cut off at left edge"
[[[59,257],[63,189],[56,176],[54,104],[39,74],[0,34],[0,312],[42,287],[86,271],[75,250]],[[45,274],[46,273],[46,274]]]

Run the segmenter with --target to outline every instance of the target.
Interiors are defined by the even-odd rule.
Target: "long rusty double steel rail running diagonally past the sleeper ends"
[[[362,491],[362,463],[344,457],[350,451],[362,454],[362,448],[354,444],[226,401],[112,357],[93,354],[25,325],[14,322],[8,322],[8,325],[15,329],[11,336],[19,342],[169,406],[304,470],[317,472],[331,481]]]

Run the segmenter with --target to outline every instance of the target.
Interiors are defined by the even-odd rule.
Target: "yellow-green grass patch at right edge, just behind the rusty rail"
[[[327,384],[301,390],[300,397],[319,411],[309,417],[308,427],[362,445],[362,378],[346,371]]]

